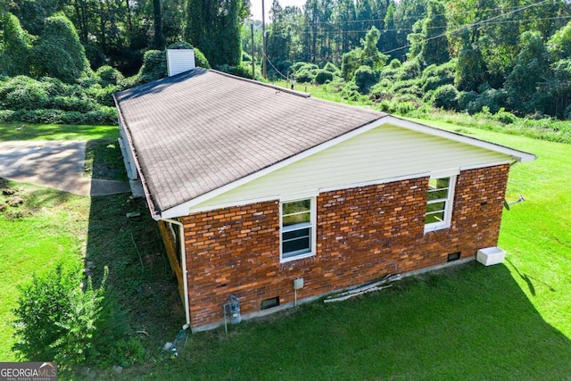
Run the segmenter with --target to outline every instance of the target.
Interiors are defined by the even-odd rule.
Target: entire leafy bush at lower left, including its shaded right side
[[[113,299],[106,294],[104,270],[101,285],[94,288],[78,269],[58,265],[45,275],[34,275],[21,287],[13,311],[13,350],[23,359],[54,360],[60,369],[79,364],[131,365],[144,360],[145,350],[128,337]]]

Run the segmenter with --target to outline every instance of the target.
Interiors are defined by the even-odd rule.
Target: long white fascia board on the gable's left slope
[[[357,137],[360,134],[364,134],[365,132],[373,129],[373,128],[377,128],[379,126],[382,126],[386,123],[385,120],[386,117],[380,118],[378,120],[375,120],[371,123],[368,123],[364,126],[361,126],[360,128],[355,128],[350,132],[347,132],[346,134],[343,134],[340,137],[335,137],[331,140],[328,140],[325,143],[322,143],[320,145],[316,145],[312,148],[310,148],[309,150],[303,151],[302,153],[298,153],[294,156],[291,156],[287,159],[285,159],[284,161],[281,162],[277,162],[274,165],[271,165],[263,170],[259,170],[257,172],[252,173],[249,176],[246,176],[244,178],[240,178],[232,183],[227,184],[226,186],[220,186],[217,189],[212,190],[211,192],[208,192],[204,195],[200,195],[190,201],[187,201],[186,203],[181,203],[177,206],[174,206],[170,209],[167,209],[165,211],[162,211],[161,213],[161,217],[163,219],[172,219],[175,217],[180,217],[180,216],[187,216],[189,211],[192,209],[192,207],[194,205],[198,205],[199,203],[204,203],[207,200],[210,200],[212,197],[216,197],[217,195],[222,195],[228,191],[231,191],[232,189],[235,189],[238,186],[243,186],[246,183],[249,183],[252,180],[255,180],[256,178],[261,178],[262,176],[266,176],[271,172],[274,172],[276,170],[279,170],[281,168],[284,168],[287,165],[293,164],[294,162],[299,162],[302,159],[305,159],[306,157],[311,156],[312,154],[315,153],[319,153],[323,150],[326,150],[327,148],[333,146],[333,145],[338,145],[339,143],[344,142],[345,140],[351,139],[352,137]]]

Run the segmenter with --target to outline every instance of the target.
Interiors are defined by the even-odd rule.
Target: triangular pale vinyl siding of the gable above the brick
[[[195,205],[191,211],[384,178],[484,167],[509,159],[507,154],[382,125]]]

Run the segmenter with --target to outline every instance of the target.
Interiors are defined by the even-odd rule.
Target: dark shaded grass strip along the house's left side
[[[124,168],[115,165],[122,166],[118,152],[119,147],[110,146],[108,140],[89,142],[87,155],[94,177],[127,178]],[[92,196],[90,200],[85,268],[95,286],[104,268],[109,269],[103,319],[94,337],[102,355],[99,363],[87,364],[101,372],[153,358],[154,352],[161,352],[162,345],[177,335],[185,318],[176,278],[145,200],[130,194]],[[134,211],[140,216],[129,219],[127,213]]]

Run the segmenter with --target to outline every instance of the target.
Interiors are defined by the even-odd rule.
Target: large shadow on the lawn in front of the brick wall
[[[174,288],[174,285],[173,285]],[[566,379],[571,341],[504,265],[469,263],[376,294],[195,334],[146,379]]]

